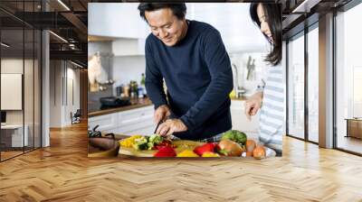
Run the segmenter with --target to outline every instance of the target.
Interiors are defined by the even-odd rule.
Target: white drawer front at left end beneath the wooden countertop
[[[115,129],[118,127],[118,115],[117,113],[110,115],[98,115],[88,119],[88,125],[90,128],[93,128],[97,124],[100,125],[100,127],[97,129],[99,131]]]

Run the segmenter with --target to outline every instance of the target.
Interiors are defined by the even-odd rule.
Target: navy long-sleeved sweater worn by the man
[[[186,124],[186,132],[174,135],[202,140],[232,128],[233,72],[220,33],[207,23],[188,22],[185,38],[172,47],[148,35],[146,88],[155,108],[170,106]]]

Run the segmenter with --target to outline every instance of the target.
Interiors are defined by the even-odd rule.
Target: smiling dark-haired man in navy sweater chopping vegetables
[[[213,141],[232,128],[233,72],[220,33],[186,20],[185,4],[141,3],[146,40],[146,88],[155,105],[157,133]],[[167,96],[164,90],[164,79]]]

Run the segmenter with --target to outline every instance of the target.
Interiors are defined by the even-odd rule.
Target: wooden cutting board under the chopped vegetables
[[[205,142],[195,142],[195,141],[174,141],[176,145],[175,151],[176,153],[183,152],[185,150],[194,150],[196,146],[202,145]],[[128,155],[135,157],[153,157],[153,155],[157,152],[157,150],[136,150],[134,148],[129,147],[119,147],[119,155]]]

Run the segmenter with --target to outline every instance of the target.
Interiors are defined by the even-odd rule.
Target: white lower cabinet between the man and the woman
[[[245,101],[232,100],[230,106],[232,114],[233,129],[243,131],[246,133],[257,133],[259,127],[259,112],[257,115],[252,116],[252,120],[249,121],[245,115]]]

